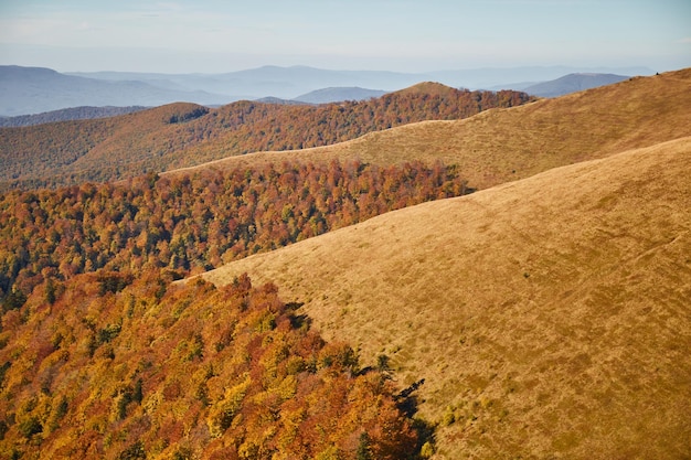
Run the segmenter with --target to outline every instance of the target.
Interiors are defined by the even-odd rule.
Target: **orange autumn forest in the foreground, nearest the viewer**
[[[362,368],[348,345],[325,343],[273,285],[169,282],[156,270],[137,280],[82,275],[3,315],[1,458],[429,451],[408,392],[394,389],[385,367]]]

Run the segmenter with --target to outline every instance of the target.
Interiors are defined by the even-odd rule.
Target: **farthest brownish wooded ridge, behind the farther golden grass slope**
[[[301,149],[429,119],[460,119],[532,100],[518,92],[438,84],[366,101],[287,106],[172,104],[121,117],[0,129],[0,190],[107,182],[253,151]]]

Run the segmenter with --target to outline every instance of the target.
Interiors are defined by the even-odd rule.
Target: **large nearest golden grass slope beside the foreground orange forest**
[[[386,354],[402,386],[425,378],[421,414],[444,425],[435,458],[688,459],[690,210],[685,137],[389,213],[205,277],[274,281],[364,364]]]

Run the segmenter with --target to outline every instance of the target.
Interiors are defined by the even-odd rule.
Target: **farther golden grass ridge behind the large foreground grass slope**
[[[487,189],[551,168],[691,136],[689,107],[691,68],[487,110],[465,120],[423,121],[336,146],[259,152],[196,168],[234,168],[295,158],[359,158],[381,164],[440,159],[458,163],[470,186]]]

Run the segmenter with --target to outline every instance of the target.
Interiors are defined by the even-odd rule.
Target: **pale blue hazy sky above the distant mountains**
[[[0,0],[0,65],[691,67],[691,0]]]

